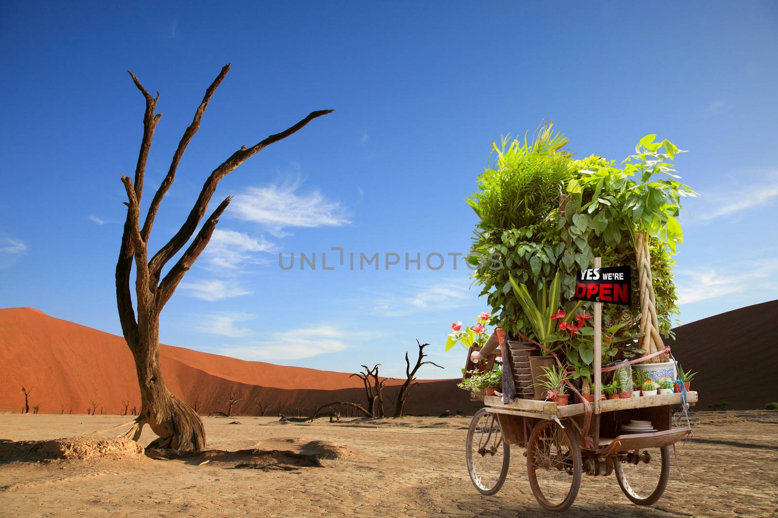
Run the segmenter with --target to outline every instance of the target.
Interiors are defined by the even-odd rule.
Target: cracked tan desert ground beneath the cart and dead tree
[[[699,412],[678,445],[664,497],[634,506],[615,477],[584,475],[566,516],[776,516],[778,412]],[[0,439],[44,440],[107,429],[121,415],[0,415]],[[2,516],[558,516],[527,482],[523,450],[497,495],[471,486],[464,462],[468,418],[345,419],[313,424],[271,417],[204,418],[209,448],[289,449],[336,443],[322,467],[236,469],[148,457],[67,461],[0,459]],[[229,424],[237,420],[240,424]],[[97,436],[110,436],[99,433]],[[91,435],[95,436],[95,435]],[[142,444],[153,439],[148,427]],[[291,446],[290,446],[291,445]],[[675,464],[675,463],[674,463]]]

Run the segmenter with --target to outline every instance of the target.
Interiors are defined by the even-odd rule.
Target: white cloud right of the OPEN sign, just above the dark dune
[[[748,262],[741,268],[678,270],[678,304],[694,304],[743,293],[759,281],[763,288],[778,286],[778,259]]]

